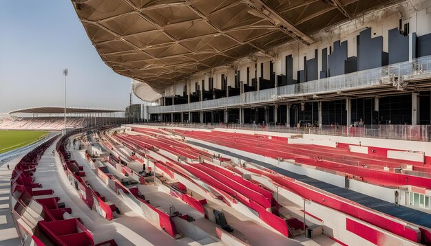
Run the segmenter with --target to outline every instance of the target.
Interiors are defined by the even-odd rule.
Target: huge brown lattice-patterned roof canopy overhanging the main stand
[[[102,60],[158,93],[395,0],[72,0]],[[253,56],[251,56],[253,57]]]

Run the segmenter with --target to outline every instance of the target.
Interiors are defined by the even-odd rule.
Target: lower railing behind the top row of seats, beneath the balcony
[[[231,128],[249,131],[268,131],[292,134],[318,134],[344,137],[371,137],[383,139],[400,139],[408,141],[431,142],[430,125],[366,125],[353,126],[322,126],[319,127],[287,127],[285,125],[253,125],[253,124],[225,124],[225,123],[145,123],[151,126],[176,126],[184,128],[213,129]]]

